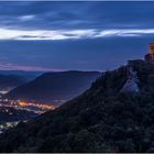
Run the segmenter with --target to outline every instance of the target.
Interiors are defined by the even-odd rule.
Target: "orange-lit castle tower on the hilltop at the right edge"
[[[145,55],[145,61],[154,63],[154,43],[150,44],[150,53]]]

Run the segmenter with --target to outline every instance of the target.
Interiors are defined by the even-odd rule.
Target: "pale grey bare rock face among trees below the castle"
[[[123,85],[121,92],[127,92],[131,95],[140,94],[140,88],[138,84],[139,84],[139,79],[138,79],[136,72],[134,72],[132,67],[129,67],[129,78],[127,82]]]

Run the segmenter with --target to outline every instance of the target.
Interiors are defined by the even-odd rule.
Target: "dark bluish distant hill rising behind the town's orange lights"
[[[13,89],[6,97],[58,105],[58,101],[72,99],[84,92],[99,75],[98,72],[45,73]]]

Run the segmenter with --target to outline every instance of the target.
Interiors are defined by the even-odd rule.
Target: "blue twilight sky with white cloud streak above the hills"
[[[143,58],[154,2],[2,2],[0,69],[106,70]]]

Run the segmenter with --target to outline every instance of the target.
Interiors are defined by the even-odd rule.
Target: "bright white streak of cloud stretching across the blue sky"
[[[0,40],[79,40],[98,37],[133,37],[153,35],[154,29],[111,29],[111,30],[11,30],[0,29]]]

